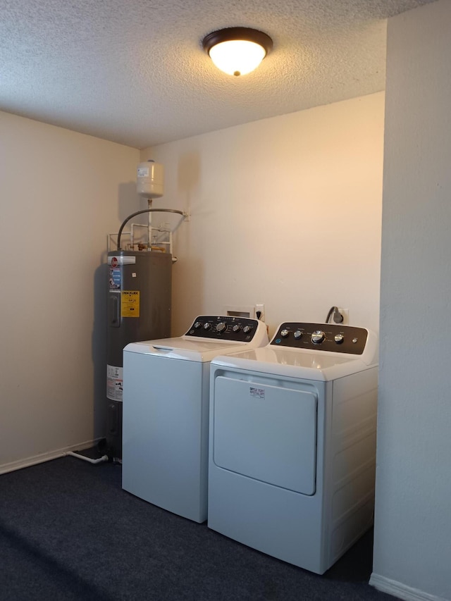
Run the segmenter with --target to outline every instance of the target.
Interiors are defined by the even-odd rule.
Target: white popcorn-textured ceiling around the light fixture
[[[0,0],[0,109],[143,148],[384,89],[386,18],[434,0]],[[254,27],[241,78],[202,38]]]

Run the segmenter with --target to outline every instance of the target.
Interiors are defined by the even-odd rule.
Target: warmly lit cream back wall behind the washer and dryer
[[[174,238],[174,335],[197,314],[260,302],[270,333],[324,321],[332,305],[378,330],[383,103],[373,94],[142,151],[165,167],[154,207],[191,214]]]

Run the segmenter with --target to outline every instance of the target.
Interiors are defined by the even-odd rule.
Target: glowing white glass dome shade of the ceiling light
[[[216,44],[209,54],[216,67],[224,73],[246,75],[263,61],[266,50],[260,44],[246,39],[231,39],[230,42]]]

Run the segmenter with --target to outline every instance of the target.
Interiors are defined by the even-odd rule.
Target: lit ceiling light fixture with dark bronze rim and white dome
[[[228,27],[206,35],[202,46],[218,69],[228,75],[246,75],[259,66],[273,40],[249,27]]]

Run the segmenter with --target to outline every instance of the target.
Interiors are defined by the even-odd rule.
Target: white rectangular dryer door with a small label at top
[[[317,395],[308,390],[216,377],[214,464],[314,495],[317,403]]]

